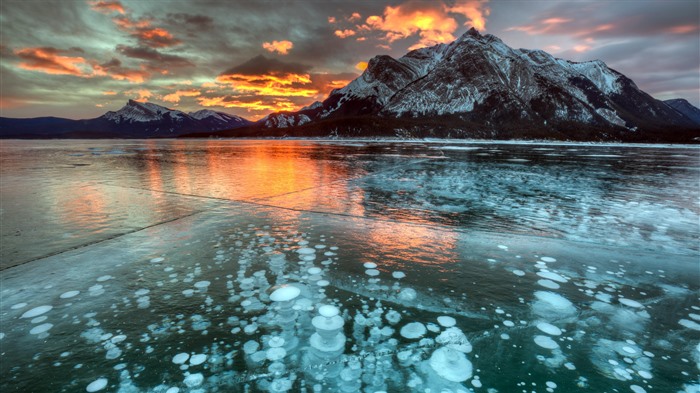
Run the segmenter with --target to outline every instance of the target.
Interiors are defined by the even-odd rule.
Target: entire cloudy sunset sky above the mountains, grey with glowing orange
[[[472,26],[698,106],[699,19],[697,0],[3,0],[1,116],[92,118],[136,99],[257,120]]]

